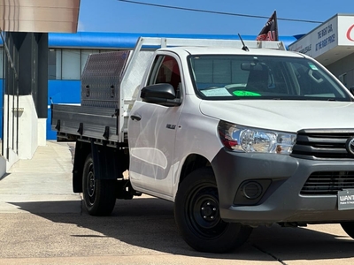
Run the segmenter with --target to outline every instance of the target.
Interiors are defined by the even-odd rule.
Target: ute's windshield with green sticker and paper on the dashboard
[[[351,101],[323,66],[304,57],[189,57],[196,94],[207,100],[294,99]]]

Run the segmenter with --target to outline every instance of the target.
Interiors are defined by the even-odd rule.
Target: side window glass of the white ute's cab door
[[[175,58],[170,56],[158,56],[155,58],[150,72],[148,85],[159,83],[171,84],[179,97],[181,87],[180,68]]]

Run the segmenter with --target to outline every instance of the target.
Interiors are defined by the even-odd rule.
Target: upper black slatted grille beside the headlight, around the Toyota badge
[[[354,159],[346,148],[354,130],[301,130],[291,156],[305,159]]]

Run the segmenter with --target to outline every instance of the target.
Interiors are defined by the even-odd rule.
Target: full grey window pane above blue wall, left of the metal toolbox
[[[81,50],[62,50],[62,79],[81,79]]]

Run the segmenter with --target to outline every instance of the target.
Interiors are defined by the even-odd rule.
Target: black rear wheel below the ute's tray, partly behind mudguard
[[[82,195],[91,216],[109,216],[116,203],[114,179],[95,179],[91,154],[86,158],[82,174]]]

